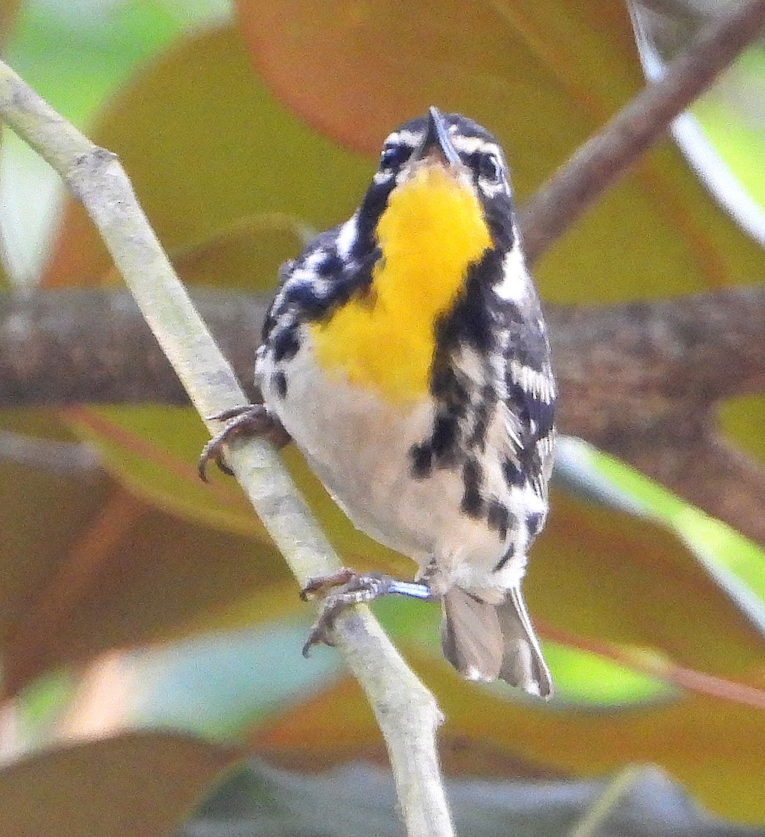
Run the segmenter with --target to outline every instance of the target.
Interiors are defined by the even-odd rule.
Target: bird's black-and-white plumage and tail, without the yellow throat
[[[424,167],[441,167],[477,198],[488,239],[449,304],[424,312],[432,316],[427,387],[395,403],[351,375],[327,374],[319,341],[344,306],[377,316],[389,256],[381,218],[413,178],[429,176],[418,173]],[[416,316],[410,307],[402,311]],[[380,350],[403,364],[406,337],[394,336],[401,357]],[[344,603],[381,592],[438,598],[444,654],[463,675],[549,696],[521,578],[547,516],[556,391],[505,158],[488,131],[432,108],[388,137],[357,212],[285,264],[256,377],[271,416],[357,527],[419,567],[415,584],[344,578],[313,639]]]

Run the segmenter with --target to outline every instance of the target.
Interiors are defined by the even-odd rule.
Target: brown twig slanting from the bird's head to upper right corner
[[[629,170],[765,26],[765,2],[750,0],[709,23],[687,51],[668,64],[592,136],[526,204],[520,224],[530,263]]]

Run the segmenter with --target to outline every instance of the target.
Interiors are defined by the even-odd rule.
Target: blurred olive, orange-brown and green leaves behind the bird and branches
[[[643,10],[647,71],[699,23],[680,8],[685,17],[675,3]],[[629,12],[610,0],[23,0],[3,18],[5,59],[121,156],[163,244],[182,251],[183,278],[239,290],[271,290],[307,231],[346,218],[383,137],[427,105],[495,131],[522,203],[644,84]],[[672,142],[652,151],[542,259],[543,298],[609,302],[761,277],[763,88],[758,45],[678,133],[701,180]],[[698,162],[707,141],[714,167],[732,173],[726,187]],[[0,225],[7,287],[116,281],[84,214],[8,132]],[[765,458],[762,398],[726,403],[723,417]],[[300,656],[311,611],[238,487],[197,480],[205,437],[192,411],[18,410],[0,427],[85,442],[100,463],[62,474],[0,460],[3,834],[166,834],[244,756],[272,767],[239,767],[188,834],[195,822],[221,837],[372,833],[370,822],[398,833],[392,802],[354,820],[351,800],[333,796],[339,781],[377,798],[384,777],[371,768],[298,776],[384,764],[383,744],[336,655]],[[285,458],[348,563],[411,573],[352,529],[299,454]],[[457,680],[436,608],[375,608],[446,714],[444,767],[470,833],[506,833],[490,830],[495,815],[511,818],[492,805],[514,793],[532,800],[519,834],[586,828],[603,798],[619,822],[629,812],[614,800],[644,805],[645,833],[672,816],[668,833],[701,833],[670,780],[635,764],[657,765],[713,814],[765,823],[760,548],[566,439],[526,591],[557,684],[549,706]],[[591,781],[605,775],[616,779]],[[336,818],[311,824],[331,800]]]

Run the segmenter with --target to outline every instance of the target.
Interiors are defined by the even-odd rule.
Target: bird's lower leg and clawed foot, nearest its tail
[[[336,589],[333,589],[336,588]],[[434,600],[434,594],[429,585],[418,582],[398,581],[382,573],[355,573],[343,567],[337,573],[322,578],[311,578],[311,581],[300,591],[300,598],[304,601],[314,594],[324,595],[321,603],[319,618],[308,633],[303,645],[303,656],[311,652],[311,646],[319,643],[334,645],[332,631],[335,619],[346,608],[354,604],[369,603],[381,596],[412,596]]]

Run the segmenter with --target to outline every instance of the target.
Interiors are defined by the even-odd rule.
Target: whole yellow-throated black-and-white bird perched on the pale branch
[[[343,569],[305,644],[337,614],[398,594],[441,604],[444,656],[468,680],[552,696],[521,593],[548,511],[556,384],[500,144],[430,107],[393,131],[356,212],[280,270],[255,363],[263,403],[240,433],[292,439],[361,531],[413,581]]]

